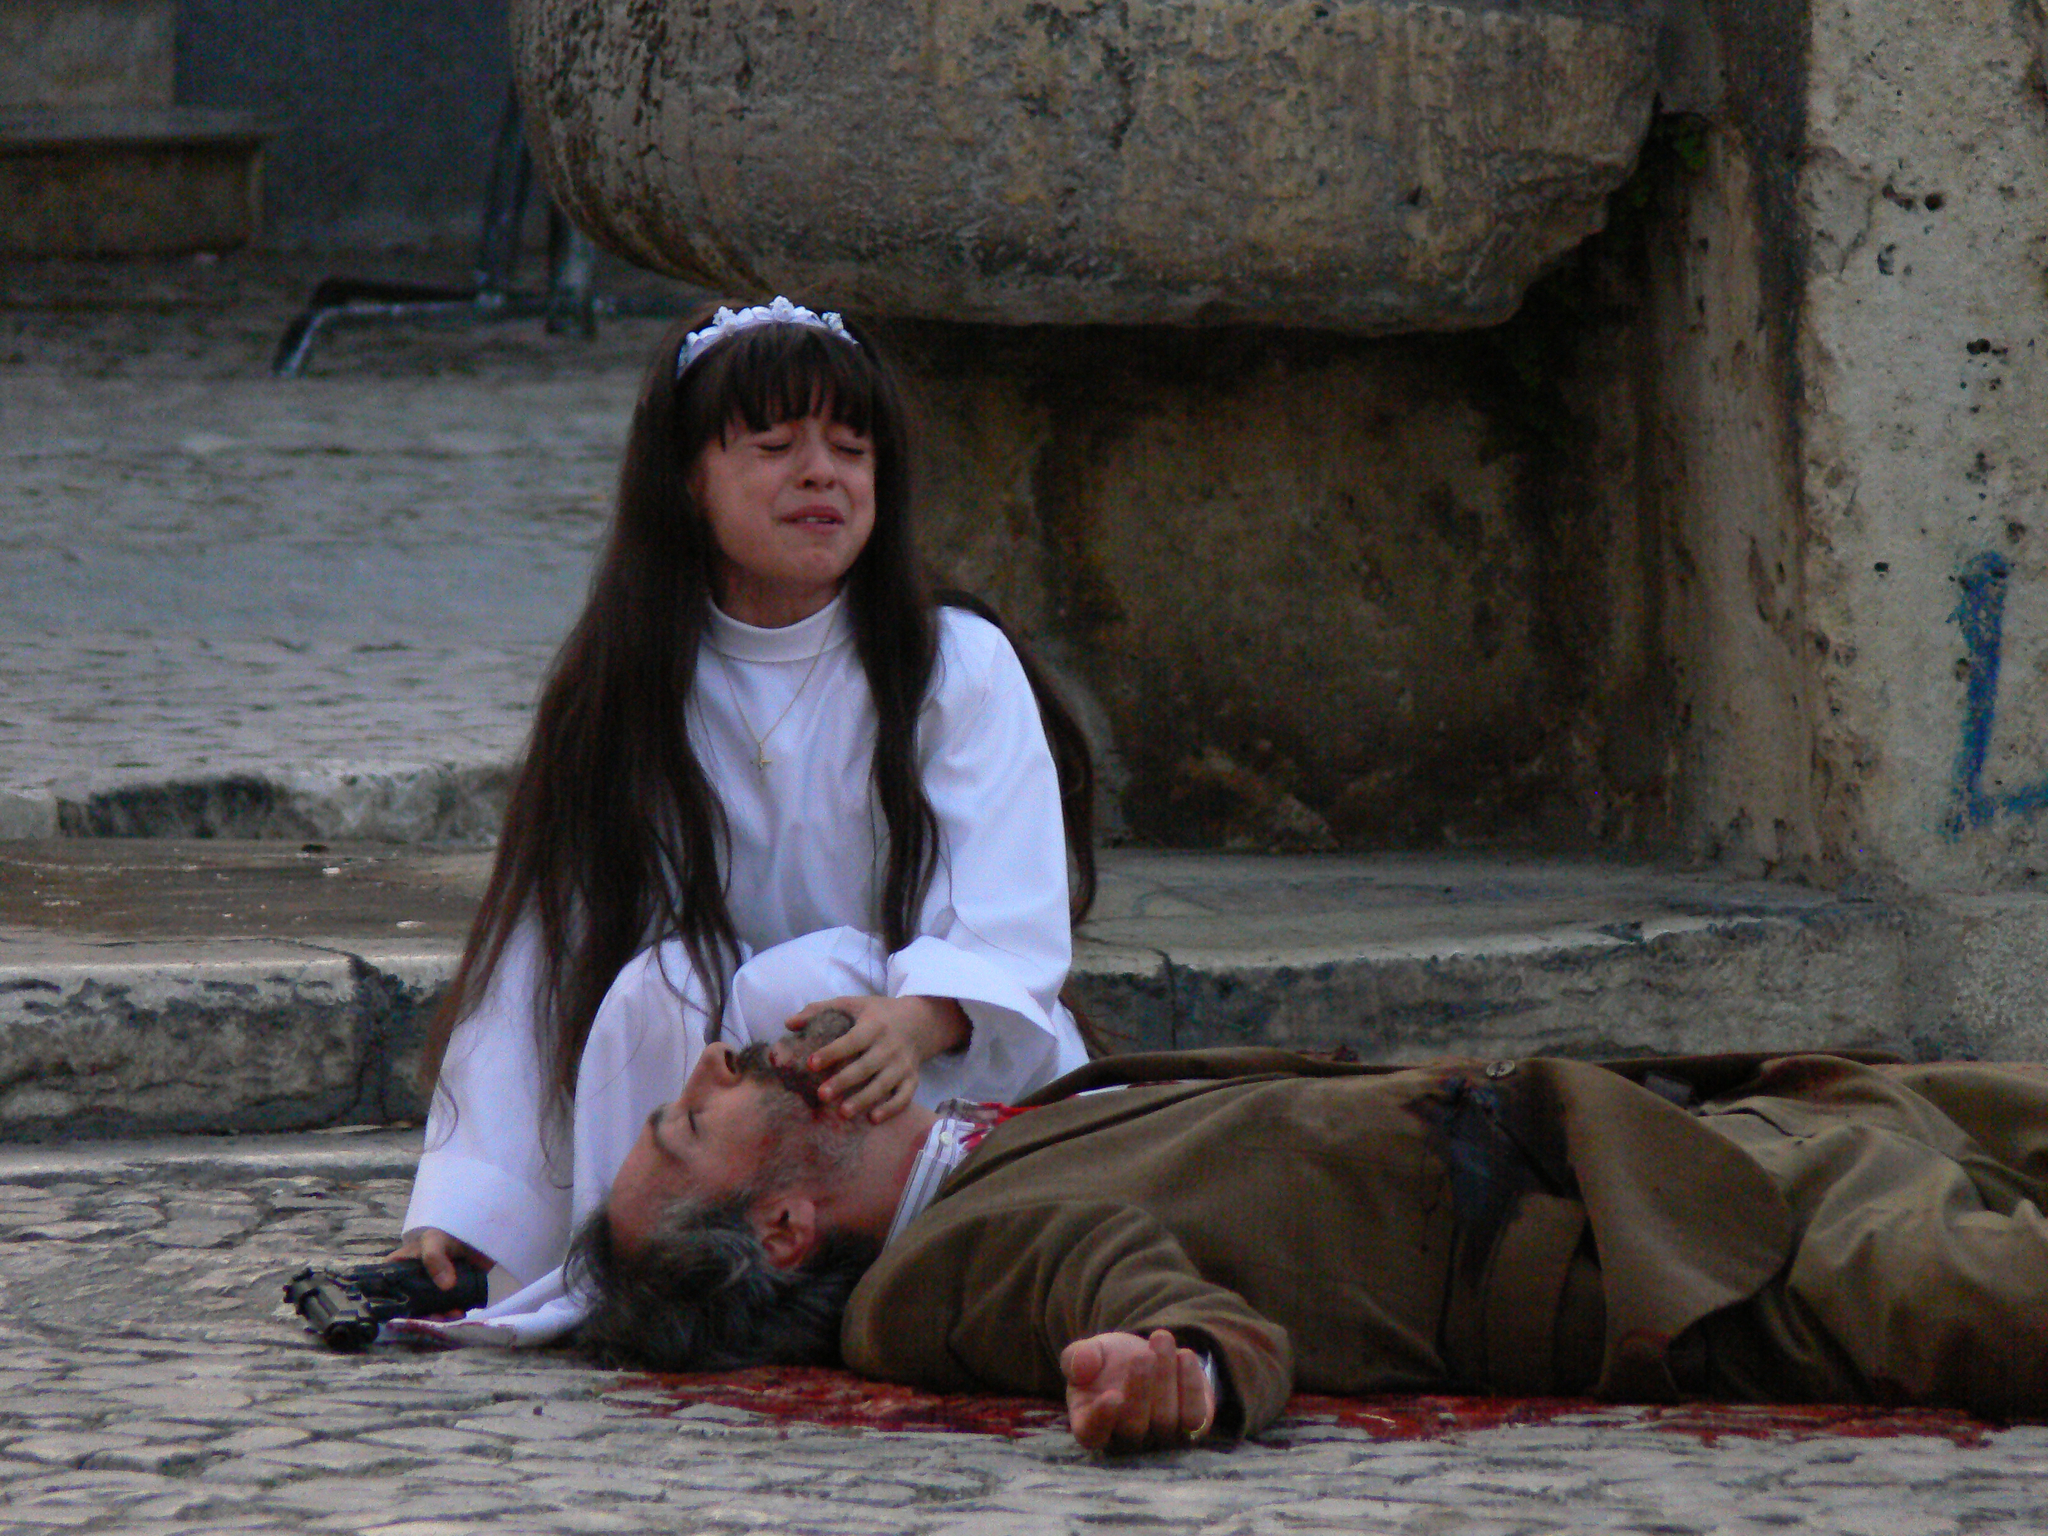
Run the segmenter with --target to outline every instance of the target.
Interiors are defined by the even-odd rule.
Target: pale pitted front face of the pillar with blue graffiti
[[[1853,864],[2048,868],[2038,0],[1812,14],[1800,373],[1817,791]]]

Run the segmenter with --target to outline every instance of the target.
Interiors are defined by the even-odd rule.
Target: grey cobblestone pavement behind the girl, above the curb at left
[[[340,332],[272,379],[324,270],[0,262],[0,793],[514,754],[662,322]]]

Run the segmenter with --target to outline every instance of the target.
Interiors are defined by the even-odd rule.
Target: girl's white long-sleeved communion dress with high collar
[[[870,936],[885,823],[868,782],[874,709],[844,598],[786,629],[713,610],[690,700],[690,743],[725,805],[727,905],[752,958],[733,977],[723,1038],[782,1034],[836,995],[952,997],[973,1026],[928,1061],[920,1104],[1012,1100],[1085,1061],[1059,989],[1071,961],[1059,784],[1024,670],[993,625],[940,610],[918,727],[940,858],[901,950]],[[647,1114],[676,1096],[705,1042],[702,981],[682,944],[635,956],[612,983],[578,1067],[575,1102],[547,1122],[532,1030],[535,942],[514,934],[481,1006],[449,1042],[406,1231],[438,1227],[520,1286],[451,1339],[541,1343],[582,1317],[559,1266],[604,1202]]]

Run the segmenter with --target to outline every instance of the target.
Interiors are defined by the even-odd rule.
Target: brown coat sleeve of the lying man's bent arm
[[[1227,1386],[1219,1434],[1257,1434],[1286,1407],[1286,1329],[1204,1280],[1153,1217],[1116,1202],[973,1212],[940,1202],[860,1280],[842,1352],[881,1380],[1061,1397],[1069,1343],[1157,1327],[1217,1360]]]

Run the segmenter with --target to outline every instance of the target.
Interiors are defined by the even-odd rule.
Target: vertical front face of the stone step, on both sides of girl
[[[1104,928],[1128,928],[1108,922]],[[1915,924],[1872,901],[1485,940],[1202,952],[1077,946],[1116,1049],[1268,1042],[1364,1061],[1929,1049]],[[195,958],[197,954],[197,958]],[[72,944],[0,967],[0,1139],[276,1133],[412,1120],[457,946]]]

